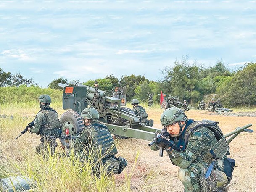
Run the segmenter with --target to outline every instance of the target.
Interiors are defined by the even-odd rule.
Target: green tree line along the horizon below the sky
[[[220,98],[225,107],[256,105],[256,63],[245,63],[237,71],[230,71],[222,61],[217,61],[213,67],[205,67],[196,61],[189,63],[185,56],[181,60],[175,60],[173,66],[163,68],[161,74],[163,78],[158,81],[150,81],[145,76],[134,74],[118,79],[111,74],[80,83],[93,87],[96,80],[99,89],[107,91],[109,95],[112,95],[114,87],[127,87],[127,101],[133,98],[147,101],[147,93],[153,92],[154,102],[159,102],[158,94],[162,90],[163,93],[179,97],[180,101],[187,100],[192,105],[201,100],[211,100],[212,97]],[[50,82],[48,87],[60,89],[58,83],[69,84],[69,80],[60,77]],[[0,87],[20,85],[38,86],[32,78],[26,79],[21,74],[12,75],[0,68]]]

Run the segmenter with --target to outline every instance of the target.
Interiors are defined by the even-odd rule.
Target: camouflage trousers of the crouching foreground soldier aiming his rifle
[[[185,187],[185,192],[221,192],[225,191],[229,181],[224,172],[213,169],[205,179],[208,167],[201,163],[191,163],[187,168],[179,170],[179,179]]]

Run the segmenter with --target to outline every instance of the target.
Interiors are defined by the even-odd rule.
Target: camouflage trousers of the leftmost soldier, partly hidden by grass
[[[45,135],[41,136],[41,143],[37,145],[36,151],[40,155],[43,155],[44,157],[48,157],[49,155],[53,155],[55,153],[55,148],[58,146],[58,143],[56,142],[56,138],[51,138]]]

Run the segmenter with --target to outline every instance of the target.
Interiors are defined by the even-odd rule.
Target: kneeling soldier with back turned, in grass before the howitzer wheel
[[[95,164],[93,171],[99,174],[99,168],[103,166],[107,174],[120,174],[127,166],[127,160],[118,157],[116,145],[107,126],[101,124],[99,113],[94,108],[86,108],[81,116],[84,121],[84,129],[74,142],[74,151],[81,162],[91,161]]]

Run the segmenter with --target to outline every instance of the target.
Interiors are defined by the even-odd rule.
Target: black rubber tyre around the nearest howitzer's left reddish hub
[[[78,113],[75,110],[67,110],[61,115],[61,118],[60,118],[61,130],[66,121],[71,121],[71,123],[74,125],[74,132],[84,129],[84,122],[82,120],[82,117],[80,113]],[[77,136],[78,134],[79,133],[74,134],[73,136]],[[65,133],[62,132],[61,136],[65,136]],[[69,140],[74,140],[74,137],[69,137]],[[70,148],[69,142],[66,142],[66,141],[67,141],[66,139],[60,138],[60,142],[63,148],[66,147],[67,149],[69,149]]]

